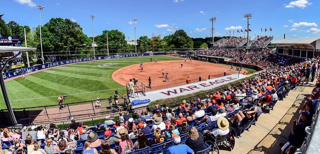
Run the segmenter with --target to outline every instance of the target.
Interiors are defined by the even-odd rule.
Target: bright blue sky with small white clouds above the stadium
[[[269,35],[271,27],[271,35],[278,39],[283,38],[284,33],[286,38],[320,37],[320,25],[316,26],[320,23],[318,0],[3,0],[1,4],[0,14],[5,14],[6,22],[14,20],[20,25],[36,27],[39,24],[36,5],[43,5],[42,24],[56,17],[72,19],[88,36],[92,36],[90,14],[96,15],[95,36],[102,30],[119,29],[127,40],[128,37],[133,40],[132,18],[138,19],[137,39],[142,35],[151,37],[152,33],[163,37],[179,29],[190,37],[210,37],[211,17],[217,18],[214,36],[226,36],[227,29],[232,30],[231,36],[235,29],[236,36],[237,29],[244,31],[247,27],[244,14],[252,13],[250,36],[260,35],[260,28],[262,35],[265,28]]]

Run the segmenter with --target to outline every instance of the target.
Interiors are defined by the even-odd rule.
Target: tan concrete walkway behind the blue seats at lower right
[[[309,85],[297,86],[291,90],[284,101],[278,101],[270,114],[262,113],[256,122],[257,126],[251,126],[241,136],[236,137],[235,148],[231,151],[223,145],[219,145],[220,154],[280,154],[280,142],[288,142],[287,137],[292,129],[292,121],[299,118],[299,109],[302,107],[306,97],[314,88],[316,82]]]

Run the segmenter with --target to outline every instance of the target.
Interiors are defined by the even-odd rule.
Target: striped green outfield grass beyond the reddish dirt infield
[[[179,60],[180,58],[168,56],[152,56],[152,59],[158,61]],[[118,89],[119,96],[126,93],[123,85],[112,79],[112,73],[117,69],[141,63],[149,62],[150,56],[130,57],[120,59],[110,59],[75,63],[60,66],[54,69],[47,69],[23,77],[5,82],[10,100],[20,100],[29,98],[49,97],[58,95],[67,95],[74,93],[85,93],[107,89]],[[117,65],[108,67],[92,67],[105,63],[117,63]],[[128,70],[130,71],[130,70]],[[129,81],[128,81],[129,82]],[[108,98],[113,96],[115,90],[69,95],[64,103],[95,100],[97,97]],[[1,101],[3,96],[1,95]],[[42,98],[33,100],[11,101],[12,108],[34,107],[43,105],[57,105],[58,97]],[[6,109],[4,102],[0,102],[0,108]]]

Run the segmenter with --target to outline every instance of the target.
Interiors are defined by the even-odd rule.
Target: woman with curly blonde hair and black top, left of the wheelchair
[[[185,144],[188,145],[195,153],[207,148],[204,144],[202,135],[199,135],[196,127],[191,127],[189,129],[188,138]]]

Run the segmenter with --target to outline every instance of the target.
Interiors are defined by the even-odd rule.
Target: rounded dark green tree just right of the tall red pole
[[[187,35],[187,33],[183,29],[174,32],[172,37],[173,44],[176,48],[193,48],[192,39]]]

